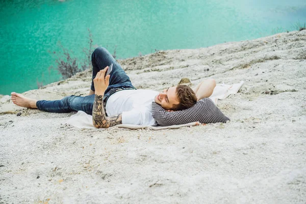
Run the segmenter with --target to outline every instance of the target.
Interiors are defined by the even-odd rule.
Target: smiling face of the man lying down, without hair
[[[155,103],[160,105],[166,110],[171,110],[173,105],[180,104],[176,97],[176,86],[164,89],[163,92],[155,96]]]

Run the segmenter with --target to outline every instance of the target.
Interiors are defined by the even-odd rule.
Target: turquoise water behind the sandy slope
[[[0,20],[0,94],[9,94],[60,80],[48,50],[57,52],[60,41],[84,58],[87,28],[94,45],[110,52],[117,45],[123,59],[296,30],[306,22],[306,1],[0,1]]]

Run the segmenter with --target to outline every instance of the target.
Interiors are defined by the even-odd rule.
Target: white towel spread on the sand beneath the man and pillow
[[[226,84],[217,84],[215,87],[213,94],[209,97],[211,98],[215,104],[217,104],[218,99],[224,99],[230,94],[235,94],[239,91],[241,86],[243,85],[243,81],[239,84],[226,85]],[[65,123],[66,126],[74,126],[80,129],[95,129],[96,127],[92,124],[92,116],[86,114],[83,111],[78,111],[77,114],[72,115]],[[171,125],[171,126],[150,126],[150,125],[134,125],[134,124],[119,124],[114,127],[120,127],[125,129],[152,129],[152,130],[164,130],[164,129],[176,129],[184,126],[193,126],[199,125],[199,122],[191,122],[187,124],[181,125]],[[100,129],[107,130],[107,129]]]

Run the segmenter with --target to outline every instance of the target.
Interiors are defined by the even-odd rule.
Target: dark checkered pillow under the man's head
[[[201,123],[226,122],[230,120],[213,103],[210,98],[203,98],[186,110],[168,112],[152,102],[152,116],[159,125],[170,126],[199,121]]]

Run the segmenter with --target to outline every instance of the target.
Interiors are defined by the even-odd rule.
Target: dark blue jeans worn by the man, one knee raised
[[[115,90],[120,89],[136,89],[130,78],[126,75],[125,71],[113,58],[113,56],[104,47],[97,47],[91,55],[92,62],[92,80],[95,78],[98,71],[113,63],[113,70],[110,73],[110,84],[104,92],[104,100],[111,94],[115,93]],[[91,83],[91,90],[94,91],[93,81]],[[61,100],[38,100],[36,102],[37,109],[41,111],[47,111],[52,113],[69,113],[84,111],[87,114],[92,114],[94,94],[88,96],[66,96]],[[106,103],[104,103],[106,106]]]

